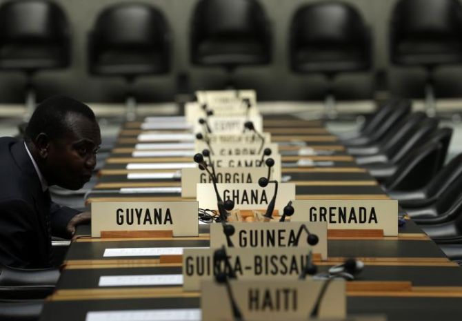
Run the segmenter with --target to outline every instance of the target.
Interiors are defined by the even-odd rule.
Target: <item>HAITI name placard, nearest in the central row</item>
[[[232,297],[245,320],[311,320],[323,280],[230,280]],[[220,298],[217,309],[217,298]],[[234,320],[225,284],[201,282],[203,321]],[[345,320],[345,280],[328,284],[316,320]]]

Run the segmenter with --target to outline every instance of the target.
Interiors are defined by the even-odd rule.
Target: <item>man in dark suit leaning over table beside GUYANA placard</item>
[[[48,186],[81,188],[100,144],[92,110],[63,96],[37,106],[24,140],[0,138],[0,264],[48,267],[51,235],[72,237],[90,220],[90,213],[51,202]]]

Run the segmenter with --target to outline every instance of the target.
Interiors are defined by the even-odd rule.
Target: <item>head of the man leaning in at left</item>
[[[26,142],[48,184],[77,190],[90,180],[101,134],[90,107],[54,96],[37,106]]]

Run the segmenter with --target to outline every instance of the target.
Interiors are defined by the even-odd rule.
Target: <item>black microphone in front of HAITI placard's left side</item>
[[[232,316],[234,320],[243,321],[241,309],[239,309],[239,307],[237,306],[229,281],[229,279],[237,279],[236,273],[234,273],[234,270],[232,269],[230,260],[228,259],[228,254],[226,253],[224,246],[221,249],[217,249],[214,251],[213,262],[215,281],[219,284],[225,284],[226,286],[226,292],[228,293],[228,300],[231,304]],[[225,263],[225,271],[221,270],[221,262]]]

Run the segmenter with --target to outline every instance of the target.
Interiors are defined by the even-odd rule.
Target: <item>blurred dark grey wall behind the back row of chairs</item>
[[[88,75],[86,44],[88,31],[97,14],[114,0],[54,0],[68,14],[72,32],[70,68],[39,72],[34,77],[37,100],[61,93],[83,101],[123,101],[123,79]],[[139,101],[172,101],[179,91],[221,88],[225,72],[220,68],[191,66],[188,50],[189,25],[197,0],[138,0],[161,9],[168,19],[172,39],[172,68],[165,76],[141,77],[135,84]],[[232,0],[230,0],[232,1]],[[320,0],[316,0],[318,2]],[[321,0],[328,1],[328,0]],[[462,1],[462,0],[461,0]],[[0,1],[0,3],[3,1]],[[302,3],[312,0],[260,0],[272,25],[272,64],[238,68],[239,88],[254,88],[261,100],[321,100],[325,78],[295,75],[288,67],[288,29],[292,14]],[[337,99],[374,98],[375,86],[399,97],[423,97],[425,73],[421,68],[395,68],[388,59],[388,22],[395,0],[345,0],[352,3],[371,28],[374,65],[370,72],[341,74],[335,82]],[[179,81],[180,79],[180,81]],[[21,72],[0,72],[0,102],[21,102],[26,77]],[[462,93],[462,66],[436,71],[436,95],[458,97]]]

